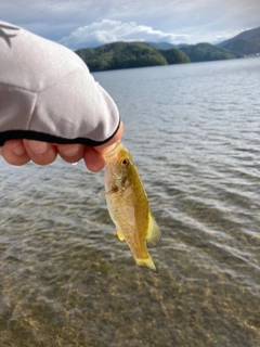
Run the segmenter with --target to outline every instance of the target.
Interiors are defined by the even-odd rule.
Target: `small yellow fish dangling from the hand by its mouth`
[[[132,156],[120,141],[103,156],[106,162],[106,203],[118,239],[126,240],[139,266],[147,267],[157,274],[146,241],[156,246],[160,230],[151,214],[147,195]]]

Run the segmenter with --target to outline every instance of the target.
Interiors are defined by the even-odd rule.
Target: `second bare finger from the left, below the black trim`
[[[48,142],[24,140],[24,146],[30,159],[38,165],[48,165],[55,160],[56,147]]]

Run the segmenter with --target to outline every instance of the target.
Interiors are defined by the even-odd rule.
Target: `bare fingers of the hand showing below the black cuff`
[[[9,140],[0,146],[0,155],[11,165],[25,165],[32,160],[38,165],[48,165],[55,160],[57,154],[67,163],[77,163],[83,158],[87,168],[92,172],[99,172],[105,166],[102,156],[109,145],[117,142],[123,132],[123,125],[120,123],[116,134],[105,144],[96,147],[83,144],[54,144],[35,140]]]

